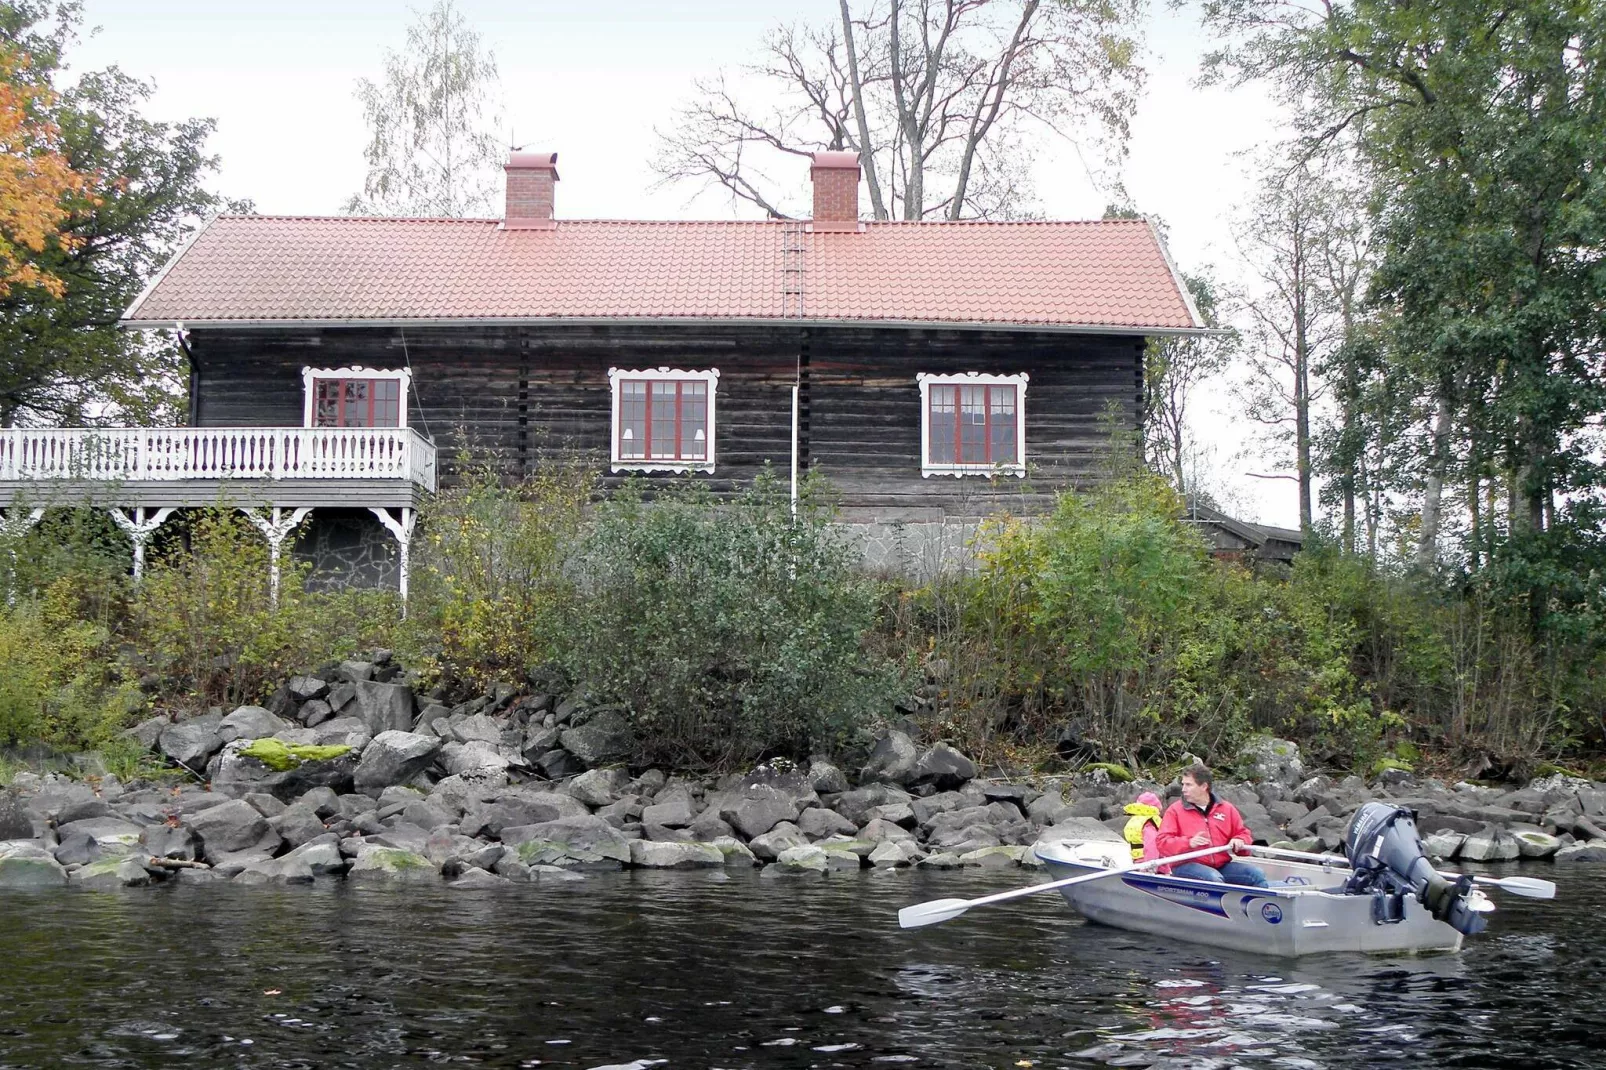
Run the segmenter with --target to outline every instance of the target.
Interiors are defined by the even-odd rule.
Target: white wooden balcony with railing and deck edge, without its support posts
[[[0,431],[0,508],[413,508],[435,447],[411,427]]]

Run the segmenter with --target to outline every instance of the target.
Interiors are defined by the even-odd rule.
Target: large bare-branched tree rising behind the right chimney
[[[874,218],[1029,214],[1033,138],[1124,154],[1142,85],[1145,0],[838,0],[782,26],[761,58],[695,84],[654,169],[795,214],[798,165],[859,153]]]

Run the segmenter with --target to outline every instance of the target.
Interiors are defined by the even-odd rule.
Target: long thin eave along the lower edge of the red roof
[[[143,297],[141,297],[143,299]],[[130,307],[133,312],[133,307]],[[986,320],[867,320],[867,318],[809,318],[809,317],[371,317],[371,318],[307,318],[307,320],[207,320],[183,317],[173,320],[140,320],[124,315],[117,326],[127,329],[172,329],[183,325],[186,331],[243,328],[390,328],[390,326],[605,326],[605,325],[686,325],[686,326],[866,326],[866,328],[903,328],[933,329],[948,328],[960,331],[1042,331],[1052,334],[1121,334],[1132,337],[1172,337],[1172,336],[1221,336],[1230,334],[1217,328],[1192,326],[1150,326],[1150,325],[1107,325],[1107,323],[1029,323],[1029,321],[986,321]]]

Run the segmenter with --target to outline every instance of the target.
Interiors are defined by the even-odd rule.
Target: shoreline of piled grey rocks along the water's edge
[[[159,882],[446,882],[503,887],[586,872],[763,866],[825,876],[911,866],[1037,866],[1046,840],[1113,839],[1140,790],[1108,771],[978,778],[952,747],[888,731],[850,778],[816,758],[689,779],[617,763],[613,710],[499,688],[419,700],[384,652],[296,676],[263,705],[130,729],[196,776],[122,784],[21,774],[0,794],[0,888]],[[1606,786],[1551,776],[1506,790],[1391,770],[1307,774],[1262,739],[1221,782],[1262,843],[1335,850],[1349,813],[1384,798],[1418,813],[1442,861],[1606,861]]]

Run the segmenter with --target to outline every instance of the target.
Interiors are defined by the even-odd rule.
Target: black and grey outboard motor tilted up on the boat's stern
[[[1354,869],[1344,884],[1349,895],[1372,895],[1372,919],[1392,924],[1405,917],[1405,896],[1413,896],[1439,921],[1471,935],[1487,924],[1468,896],[1473,877],[1445,880],[1428,861],[1410,810],[1372,802],[1355,811],[1344,831],[1344,855]]]

